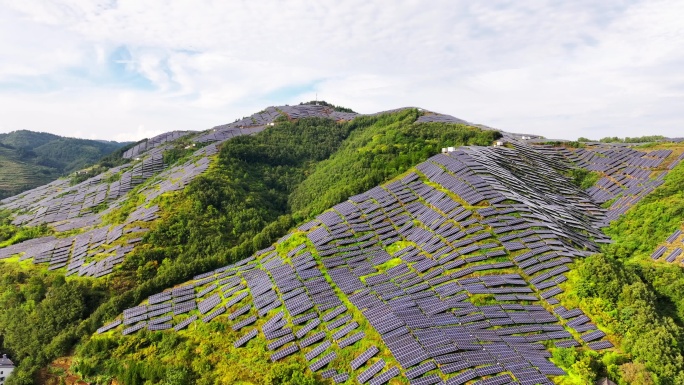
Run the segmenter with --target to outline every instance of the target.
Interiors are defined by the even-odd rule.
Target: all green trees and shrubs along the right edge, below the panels
[[[684,269],[650,254],[684,220],[684,167],[605,229],[604,254],[579,260],[563,303],[580,307],[627,356],[599,365],[620,384],[684,382]]]

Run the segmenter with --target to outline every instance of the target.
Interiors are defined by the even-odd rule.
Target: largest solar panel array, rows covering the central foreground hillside
[[[545,344],[613,346],[557,298],[572,261],[609,241],[599,231],[604,211],[559,172],[573,167],[566,156],[520,143],[436,155],[300,226],[278,241],[286,251],[270,247],[195,277],[184,285],[192,305],[164,323],[187,323],[201,315],[198,294],[221,293],[207,312],[225,311],[209,321],[229,323],[235,346],[264,338],[272,360],[301,354],[333,379],[551,383],[564,372]],[[169,293],[149,303],[174,302]],[[474,305],[473,296],[494,304]],[[365,322],[371,330],[359,330]],[[134,332],[105,332],[112,329]],[[368,333],[383,341],[377,352],[363,345]],[[358,346],[366,347],[340,354]],[[330,363],[346,369],[330,371]]]

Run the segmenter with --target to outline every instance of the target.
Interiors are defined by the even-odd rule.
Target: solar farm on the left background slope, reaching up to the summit
[[[123,153],[124,159],[131,159],[129,164],[73,186],[60,179],[0,201],[0,209],[18,213],[14,225],[47,224],[57,232],[87,230],[77,236],[37,238],[2,248],[0,259],[19,256],[20,261],[47,263],[48,270],[66,269],[66,275],[102,277],[112,273],[142,240],[141,234],[135,234],[144,233],[147,228],[140,226],[158,218],[158,208],[151,203],[155,198],[183,189],[205,172],[223,141],[262,131],[281,115],[293,119],[321,116],[342,120],[356,114],[338,113],[323,106],[270,107],[264,113],[206,132],[173,131],[148,139]],[[190,136],[203,147],[183,164],[165,165],[164,151],[171,148],[173,141]],[[145,203],[131,212],[123,224],[103,224],[103,217],[119,208],[128,193],[141,185]],[[106,209],[97,211],[103,205]]]

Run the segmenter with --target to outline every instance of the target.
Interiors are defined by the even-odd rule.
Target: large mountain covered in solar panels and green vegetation
[[[314,102],[130,145],[0,201],[8,383],[681,383],[658,140]]]

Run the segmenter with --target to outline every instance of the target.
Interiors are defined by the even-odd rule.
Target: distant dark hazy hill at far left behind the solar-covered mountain
[[[0,134],[0,198],[83,169],[127,144],[27,130]]]

